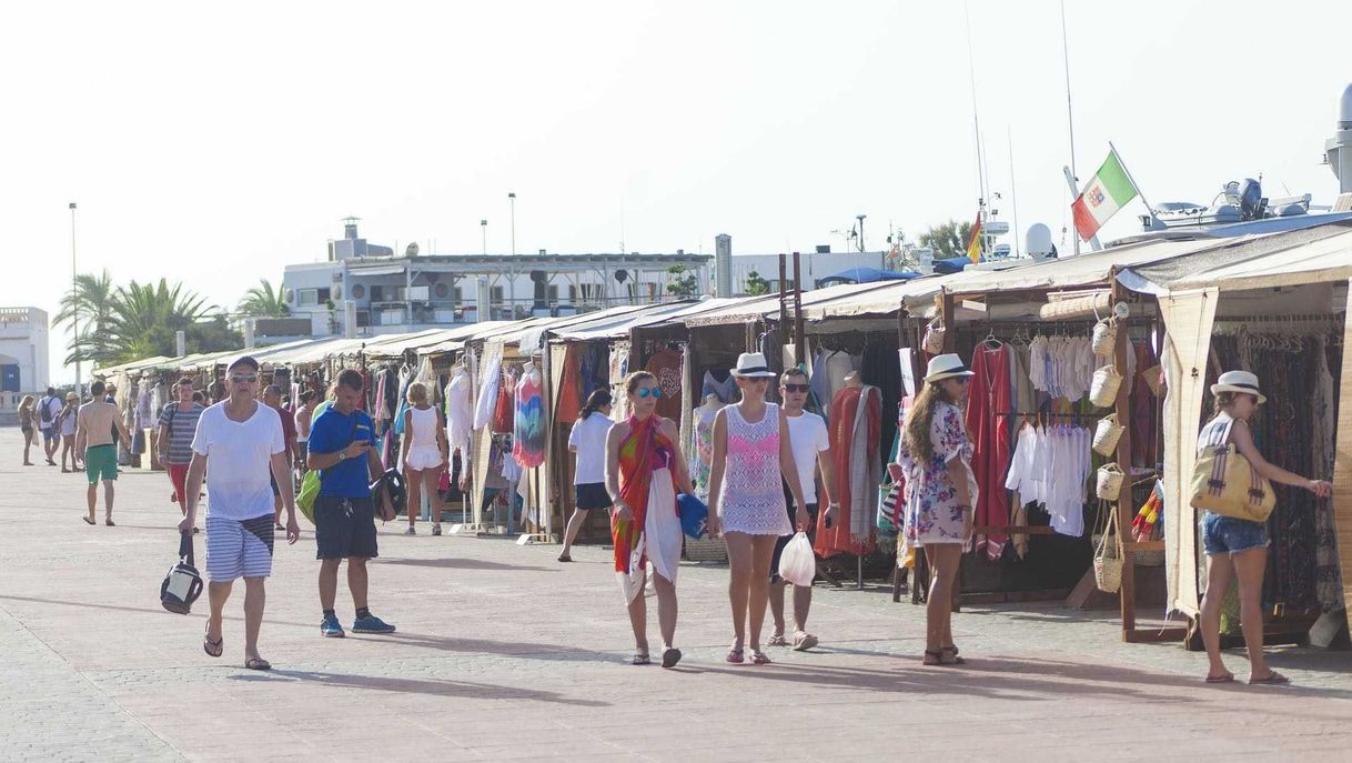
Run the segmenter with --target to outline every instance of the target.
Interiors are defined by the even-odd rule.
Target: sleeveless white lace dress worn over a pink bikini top
[[[727,417],[727,459],[718,494],[718,518],[723,532],[792,534],[779,467],[779,406],[767,403],[765,415],[756,423],[746,423],[741,406],[727,406],[723,411]]]

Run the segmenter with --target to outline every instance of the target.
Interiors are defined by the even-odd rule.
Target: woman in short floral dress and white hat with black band
[[[925,606],[925,664],[961,664],[953,644],[953,584],[972,540],[976,476],[959,406],[972,372],[956,354],[930,360],[925,387],[906,418],[896,456],[906,473],[907,542],[922,547],[932,571]]]

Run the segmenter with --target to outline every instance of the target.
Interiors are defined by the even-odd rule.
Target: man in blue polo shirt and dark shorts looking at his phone
[[[342,625],[334,613],[338,597],[338,567],[347,560],[347,588],[357,607],[353,633],[393,633],[395,626],[370,614],[366,607],[366,560],[377,556],[376,515],[370,483],[384,473],[376,453],[376,426],[357,407],[364,380],[347,369],[338,375],[334,402],[310,427],[311,469],[318,469],[319,496],[315,499],[315,541],[319,559],[319,603],[324,610],[319,630],[342,639]],[[383,515],[393,511],[388,502]]]

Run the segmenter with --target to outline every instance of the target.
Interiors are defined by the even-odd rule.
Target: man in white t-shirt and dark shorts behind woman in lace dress
[[[827,528],[831,526],[840,505],[831,502],[831,496],[836,495],[836,472],[831,468],[831,444],[826,433],[826,421],[814,413],[803,410],[803,406],[807,404],[808,390],[807,373],[798,368],[791,368],[780,376],[779,394],[780,399],[784,400],[783,410],[784,421],[788,422],[788,441],[794,448],[798,480],[803,486],[807,514],[811,517],[807,532],[813,534],[813,529],[817,526],[817,507],[821,505],[817,480],[814,479],[818,467],[821,467],[822,487],[826,488],[827,506],[825,519]],[[784,494],[788,496],[787,488]],[[788,496],[788,518],[790,522],[794,522],[792,496]],[[802,652],[815,647],[818,639],[807,632],[807,610],[813,606],[811,586],[794,586],[794,640],[790,641],[784,637],[784,586],[787,582],[779,576],[779,556],[784,552],[784,547],[788,545],[792,537],[790,534],[779,538],[779,542],[775,544],[775,557],[769,565],[769,610],[775,618],[775,632],[769,637],[769,645],[787,647],[792,644],[794,649]]]

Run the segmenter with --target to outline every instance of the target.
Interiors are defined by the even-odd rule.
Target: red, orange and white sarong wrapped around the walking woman
[[[660,430],[661,418],[629,419],[629,434],[619,442],[619,498],[633,517],[611,514],[615,544],[615,576],[626,602],[642,594],[648,561],[662,578],[676,582],[681,526],[676,513],[676,483],[671,467],[675,445]]]

